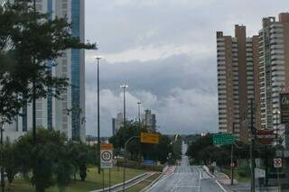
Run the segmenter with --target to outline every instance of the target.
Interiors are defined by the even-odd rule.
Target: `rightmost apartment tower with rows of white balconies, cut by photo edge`
[[[279,94],[289,87],[289,14],[263,19],[259,31],[260,114],[263,129],[277,128]]]

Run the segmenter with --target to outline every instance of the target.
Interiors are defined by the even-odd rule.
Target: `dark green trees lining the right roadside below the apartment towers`
[[[213,164],[215,163],[219,169],[230,176],[230,145],[214,145],[212,134],[210,133],[204,136],[195,135],[187,138],[193,138],[186,152],[190,157],[191,164],[207,165],[210,170],[213,171]],[[266,173],[270,169],[273,169],[273,157],[275,157],[275,148],[273,146],[256,143],[254,155],[256,159],[264,161]],[[248,181],[250,179],[248,143],[236,142],[233,160],[236,165],[235,175],[237,176],[238,181]]]

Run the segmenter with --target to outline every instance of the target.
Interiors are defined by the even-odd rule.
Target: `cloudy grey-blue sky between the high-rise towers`
[[[122,111],[119,85],[129,85],[127,115],[137,102],[156,114],[162,133],[217,132],[216,31],[247,35],[261,19],[287,12],[288,0],[86,0],[87,134],[96,135],[97,69],[100,63],[101,135],[111,135],[111,118]]]

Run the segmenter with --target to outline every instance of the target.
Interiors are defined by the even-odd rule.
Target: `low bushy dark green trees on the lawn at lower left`
[[[22,172],[31,178],[36,191],[51,186],[64,191],[73,176],[79,173],[82,181],[87,176],[89,150],[92,147],[79,142],[66,142],[59,131],[37,129],[37,145],[33,146],[33,134],[27,133],[16,142],[5,142],[5,172],[11,183],[14,175]]]

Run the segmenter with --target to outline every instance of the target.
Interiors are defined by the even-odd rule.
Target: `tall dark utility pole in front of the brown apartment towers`
[[[251,160],[251,192],[255,192],[255,158],[254,158],[254,144],[255,144],[255,128],[253,121],[253,99],[250,99],[251,109],[251,142],[250,142],[250,160]]]

